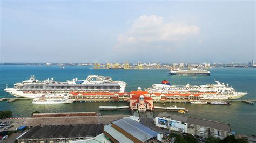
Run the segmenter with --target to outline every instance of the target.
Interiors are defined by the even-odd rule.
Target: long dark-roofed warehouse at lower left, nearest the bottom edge
[[[36,126],[17,140],[25,142],[69,142],[96,137],[102,133],[103,124]]]

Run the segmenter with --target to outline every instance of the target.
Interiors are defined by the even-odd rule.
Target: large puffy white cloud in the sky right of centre
[[[149,48],[152,44],[154,47],[163,47],[168,44],[180,45],[186,42],[187,37],[198,34],[198,26],[184,22],[164,22],[163,17],[156,15],[142,15],[133,21],[131,28],[125,34],[118,35],[115,48],[123,51],[127,47],[137,49],[147,46]]]

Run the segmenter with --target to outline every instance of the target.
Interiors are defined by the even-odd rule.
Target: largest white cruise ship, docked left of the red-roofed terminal
[[[111,77],[99,75],[89,75],[86,80],[57,82],[53,78],[44,81],[36,80],[35,76],[31,76],[29,80],[14,84],[14,87],[4,91],[16,97],[36,98],[42,95],[68,97],[72,91],[79,92],[125,92],[126,83],[123,81],[113,81]]]

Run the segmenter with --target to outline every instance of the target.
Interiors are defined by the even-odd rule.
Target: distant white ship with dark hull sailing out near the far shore
[[[170,75],[210,75],[211,73],[208,70],[197,69],[197,68],[193,68],[190,70],[181,70],[177,68],[177,69],[170,69],[168,74]]]

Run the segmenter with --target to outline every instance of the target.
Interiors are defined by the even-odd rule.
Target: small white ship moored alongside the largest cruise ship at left
[[[67,97],[47,97],[42,95],[41,97],[36,97],[33,99],[32,104],[66,104],[66,103],[73,103],[72,99]]]

